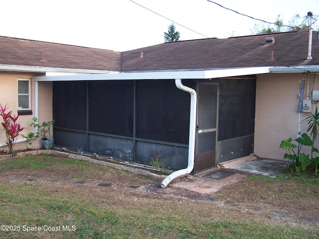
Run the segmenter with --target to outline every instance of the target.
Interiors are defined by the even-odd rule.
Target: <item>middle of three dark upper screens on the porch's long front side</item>
[[[89,82],[89,130],[133,136],[134,81]]]

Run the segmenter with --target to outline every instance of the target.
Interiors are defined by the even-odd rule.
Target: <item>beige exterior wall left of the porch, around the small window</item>
[[[31,110],[32,115],[20,115],[18,122],[22,127],[25,127],[20,134],[27,135],[28,132],[33,131],[33,127],[30,127],[32,118],[35,116],[34,109],[34,75],[32,73],[16,73],[16,72],[2,72],[0,73],[0,104],[8,107],[7,112],[17,115],[17,79],[26,78],[31,79],[30,94],[31,94]],[[44,120],[52,120],[52,83],[41,82],[39,83],[39,101],[38,101],[38,119],[39,123]],[[2,122],[2,119],[0,119]],[[18,137],[18,141],[21,141],[21,137]],[[2,125],[0,125],[0,150],[7,150],[7,146],[4,145],[5,134]],[[14,146],[14,150],[26,149],[25,142],[17,142]],[[32,140],[32,148],[40,148],[40,139]]]

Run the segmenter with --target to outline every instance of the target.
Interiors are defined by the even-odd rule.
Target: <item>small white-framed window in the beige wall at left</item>
[[[30,82],[31,79],[18,79],[18,113],[31,112],[30,101]]]

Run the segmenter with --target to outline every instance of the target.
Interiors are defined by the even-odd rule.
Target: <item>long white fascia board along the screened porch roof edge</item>
[[[164,80],[164,79],[210,79],[270,73],[269,67],[250,67],[234,69],[198,71],[157,71],[123,72],[91,75],[37,76],[35,81],[99,81],[99,80]]]

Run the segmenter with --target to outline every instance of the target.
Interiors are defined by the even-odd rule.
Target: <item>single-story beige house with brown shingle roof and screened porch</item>
[[[22,126],[33,116],[55,119],[56,145],[144,164],[157,153],[177,170],[173,177],[251,153],[283,159],[281,140],[304,132],[301,119],[319,102],[317,35],[126,52],[0,37],[0,103],[21,115]],[[22,108],[21,83],[29,87]]]

